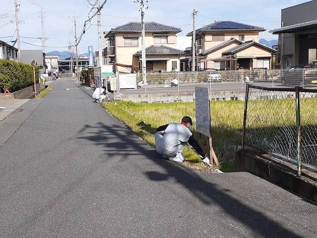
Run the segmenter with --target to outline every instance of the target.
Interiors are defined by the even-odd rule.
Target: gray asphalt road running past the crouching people
[[[161,160],[70,79],[4,127],[1,238],[316,237],[317,206],[248,173]]]

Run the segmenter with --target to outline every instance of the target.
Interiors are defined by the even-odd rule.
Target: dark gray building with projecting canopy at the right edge
[[[282,68],[317,60],[317,0],[282,9],[276,63]]]

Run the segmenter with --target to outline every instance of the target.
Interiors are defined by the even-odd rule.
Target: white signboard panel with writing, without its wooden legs
[[[205,87],[195,87],[196,100],[196,131],[211,137],[210,134],[210,104],[209,90]]]

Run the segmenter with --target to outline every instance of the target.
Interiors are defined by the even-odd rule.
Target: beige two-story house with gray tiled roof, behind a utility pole
[[[176,49],[176,34],[180,28],[157,22],[145,23],[146,60],[148,71],[179,71],[181,50]],[[108,38],[105,57],[115,63],[119,72],[130,73],[130,69],[142,70],[142,25],[129,22],[112,28]]]

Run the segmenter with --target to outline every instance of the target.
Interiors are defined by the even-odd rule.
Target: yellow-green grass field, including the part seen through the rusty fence
[[[317,104],[317,97],[302,98],[301,102],[303,134],[308,134],[305,133],[306,127],[317,127],[317,110],[312,110]],[[104,103],[104,107],[152,145],[155,145],[154,134],[160,125],[180,122],[184,116],[193,119],[191,130],[197,138],[195,103],[145,104],[118,101]],[[242,142],[243,114],[243,101],[211,101],[212,142],[222,171],[233,171],[235,152]],[[313,132],[309,131],[309,135],[315,139],[317,132]],[[293,138],[296,139],[294,98],[248,102],[247,144],[283,154],[290,151],[287,147]],[[274,149],[276,151],[271,151]],[[191,163],[203,165],[190,148],[185,148],[184,154]]]

